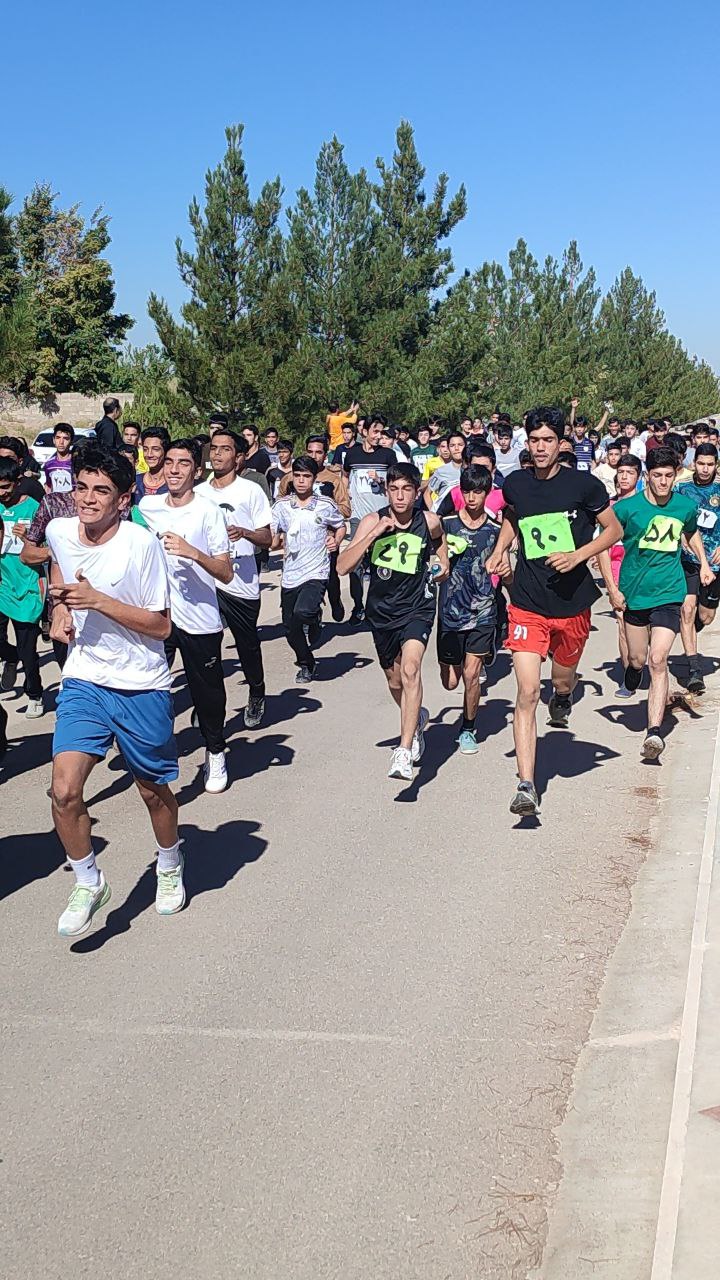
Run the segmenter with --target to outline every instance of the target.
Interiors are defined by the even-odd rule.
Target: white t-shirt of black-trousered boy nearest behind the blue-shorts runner
[[[214,502],[193,493],[184,507],[169,507],[168,498],[169,494],[163,493],[140,499],[140,511],[158,538],[177,534],[205,556],[229,552],[223,513]],[[163,554],[170,580],[170,617],[174,625],[195,636],[222,631],[215,579],[184,556],[168,556],[164,548]]]

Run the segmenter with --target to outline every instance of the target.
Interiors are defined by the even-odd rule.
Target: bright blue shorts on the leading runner
[[[141,782],[174,782],[178,749],[169,690],[104,689],[64,680],[58,696],[53,755],[83,751],[105,759],[117,740],[126,764]]]

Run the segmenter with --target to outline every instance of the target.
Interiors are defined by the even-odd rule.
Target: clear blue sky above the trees
[[[351,166],[415,127],[428,184],[465,182],[457,268],[579,242],[603,287],[630,265],[670,328],[720,369],[720,6],[626,0],[379,4],[77,3],[4,17],[0,183],[47,180],[111,215],[118,303],[152,337],[150,289],[183,300],[174,238],[246,127],[256,189],[310,184],[333,133]]]

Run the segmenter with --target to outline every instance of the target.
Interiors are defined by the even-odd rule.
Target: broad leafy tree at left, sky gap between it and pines
[[[119,343],[132,325],[114,311],[109,218],[96,210],[86,224],[77,205],[56,207],[37,186],[15,219],[23,287],[35,317],[36,361],[19,390],[96,392],[109,385]]]

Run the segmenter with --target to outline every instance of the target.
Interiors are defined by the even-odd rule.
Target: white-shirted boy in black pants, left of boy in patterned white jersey
[[[265,672],[258,631],[260,581],[255,550],[269,548],[273,539],[270,503],[259,485],[236,472],[240,452],[240,438],[233,431],[215,431],[210,443],[213,476],[197,485],[195,493],[214,502],[227,525],[233,579],[225,588],[218,589],[218,605],[236,643],[249,686],[245,727],[258,728],[265,710]]]

